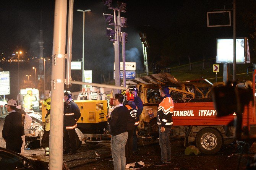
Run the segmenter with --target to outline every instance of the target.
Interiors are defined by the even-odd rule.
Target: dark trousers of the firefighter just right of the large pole
[[[64,129],[64,150],[76,153],[76,129]]]

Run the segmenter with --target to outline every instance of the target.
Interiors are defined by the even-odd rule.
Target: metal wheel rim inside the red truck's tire
[[[212,133],[206,133],[201,138],[201,145],[207,150],[214,149],[217,146],[217,137]]]

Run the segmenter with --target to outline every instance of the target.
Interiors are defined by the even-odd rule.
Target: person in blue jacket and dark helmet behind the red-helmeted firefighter
[[[134,103],[136,104],[136,106],[138,108],[138,112],[137,112],[136,119],[135,119],[135,128],[134,128],[134,131],[133,131],[133,154],[137,155],[138,154],[138,149],[137,149],[136,129],[139,125],[139,116],[141,115],[141,113],[143,111],[143,102],[142,102],[141,98],[138,97],[138,88],[136,86],[131,87],[130,92],[133,94]]]

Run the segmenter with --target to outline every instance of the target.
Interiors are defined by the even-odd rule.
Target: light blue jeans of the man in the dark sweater
[[[127,132],[115,136],[111,135],[111,152],[115,170],[125,170],[125,144],[127,138]]]

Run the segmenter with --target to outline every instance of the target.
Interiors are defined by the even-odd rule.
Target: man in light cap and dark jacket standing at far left
[[[9,114],[5,117],[3,125],[2,137],[5,139],[5,148],[11,151],[21,153],[23,126],[22,116],[16,112],[17,103],[11,99],[8,101],[7,111]]]

